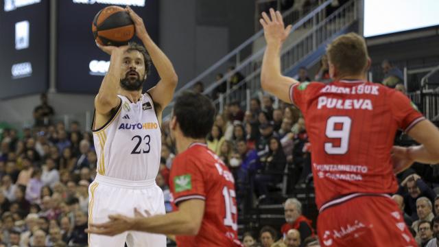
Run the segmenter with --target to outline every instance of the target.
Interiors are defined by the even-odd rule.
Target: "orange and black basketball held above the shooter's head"
[[[100,10],[93,19],[92,31],[97,43],[114,46],[128,44],[135,33],[130,14],[119,6]]]

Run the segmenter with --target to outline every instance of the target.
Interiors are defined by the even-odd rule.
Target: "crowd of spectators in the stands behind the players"
[[[228,73],[233,71],[230,67]],[[383,62],[383,84],[401,88],[394,78],[398,69]],[[218,75],[220,79],[222,75]],[[228,77],[237,85],[244,76]],[[322,58],[315,76],[306,68],[297,79],[310,78],[329,82],[326,58]],[[392,78],[391,80],[389,78]],[[225,83],[224,83],[225,84]],[[212,97],[224,93],[224,84]],[[195,86],[202,92],[202,82]],[[0,247],[1,246],[86,246],[88,185],[95,177],[97,157],[90,131],[81,130],[78,122],[52,123],[54,110],[41,96],[42,104],[34,110],[32,128],[0,130]],[[228,165],[236,181],[239,211],[257,203],[271,203],[273,191],[287,187],[312,187],[309,141],[305,119],[298,108],[270,95],[254,97],[248,110],[241,102],[230,102],[215,117],[206,137],[207,144]],[[167,123],[163,123],[160,172],[156,183],[165,194],[167,212],[172,210],[169,171],[175,148]],[[399,137],[400,138],[400,137]],[[406,142],[409,143],[410,141]],[[404,212],[407,227],[412,229],[420,246],[439,244],[438,169],[415,164],[399,174],[399,191],[392,196]],[[319,246],[315,223],[302,215],[300,200],[289,198],[284,204],[285,224],[281,228],[263,226],[259,235],[245,233],[245,246]],[[436,215],[436,216],[435,216]]]

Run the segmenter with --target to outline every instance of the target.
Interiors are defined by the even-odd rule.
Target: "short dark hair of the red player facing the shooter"
[[[205,138],[213,126],[215,107],[208,97],[185,91],[176,98],[174,116],[185,137]]]

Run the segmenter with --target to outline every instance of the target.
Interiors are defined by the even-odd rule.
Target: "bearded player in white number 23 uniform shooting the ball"
[[[169,59],[147,34],[143,20],[129,7],[141,45],[98,47],[110,54],[110,67],[95,97],[93,138],[98,156],[91,183],[88,223],[108,215],[134,215],[134,208],[165,213],[163,191],[156,185],[161,155],[161,114],[169,104],[177,75]],[[147,55],[150,54],[150,56]],[[161,80],[142,94],[150,60]],[[165,235],[126,232],[113,237],[88,235],[88,246],[166,246]]]

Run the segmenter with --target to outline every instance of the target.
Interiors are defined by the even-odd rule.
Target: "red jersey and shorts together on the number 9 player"
[[[390,152],[396,130],[408,132],[423,115],[399,91],[363,80],[294,84],[290,93],[311,143],[324,246],[372,246],[375,239],[416,246],[388,196],[398,189]]]

